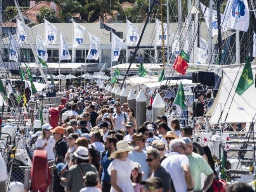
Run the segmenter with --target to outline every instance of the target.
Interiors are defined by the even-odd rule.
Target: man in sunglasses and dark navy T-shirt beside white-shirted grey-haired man
[[[168,171],[166,171],[161,166],[160,153],[156,149],[149,149],[147,151],[147,164],[152,170],[151,177],[159,177],[163,181],[163,191],[171,192],[171,176]]]

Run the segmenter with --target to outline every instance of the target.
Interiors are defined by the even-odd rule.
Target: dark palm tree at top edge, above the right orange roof
[[[117,0],[111,0],[111,7],[109,0],[86,0],[85,11],[88,13],[88,21],[92,20],[94,14],[103,21],[107,19],[107,14],[114,18],[112,10],[123,11],[121,4]]]

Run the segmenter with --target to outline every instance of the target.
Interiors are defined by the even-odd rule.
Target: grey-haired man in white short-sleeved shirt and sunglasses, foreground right
[[[169,148],[171,153],[161,166],[171,175],[175,191],[193,191],[192,175],[190,173],[189,158],[185,154],[185,142],[182,139],[173,139]]]

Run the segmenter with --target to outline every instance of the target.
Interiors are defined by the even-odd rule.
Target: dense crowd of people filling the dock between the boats
[[[137,125],[128,103],[97,86],[71,88],[63,98],[59,126],[46,123],[33,135],[56,165],[54,192],[214,191],[211,152],[179,119],[171,127],[166,116]]]

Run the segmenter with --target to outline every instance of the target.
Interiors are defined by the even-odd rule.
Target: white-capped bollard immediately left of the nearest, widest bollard
[[[136,121],[137,121],[137,127],[143,125],[143,123],[147,119],[147,97],[145,96],[145,93],[140,90],[136,97]]]

